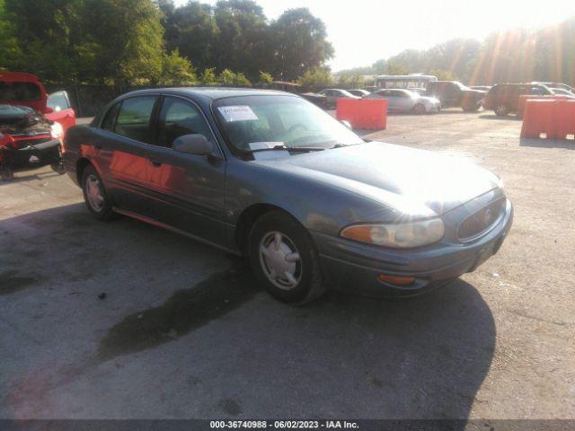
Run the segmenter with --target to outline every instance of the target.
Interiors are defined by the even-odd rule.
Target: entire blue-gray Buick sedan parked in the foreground
[[[249,257],[290,303],[416,295],[496,253],[513,209],[464,159],[366,142],[285,92],[129,92],[65,139],[99,220],[131,216]]]

